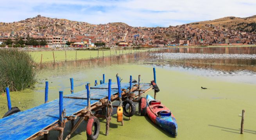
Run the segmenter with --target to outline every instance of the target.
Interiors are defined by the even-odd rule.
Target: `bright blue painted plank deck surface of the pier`
[[[121,83],[122,95],[127,96],[129,93],[129,83]],[[100,99],[107,99],[108,83],[91,87],[90,94],[91,108],[94,107]],[[135,98],[138,97],[138,83],[132,83],[132,92]],[[149,91],[150,84],[140,84],[141,94]],[[111,101],[118,99],[117,83],[111,84]],[[87,98],[86,90],[66,95],[68,97]],[[42,99],[43,100],[43,99]],[[63,108],[66,110],[66,118],[76,115],[87,107],[87,100],[63,98]],[[13,115],[0,119],[0,140],[26,140],[39,137],[42,131],[56,125],[59,122],[59,99],[44,103],[25,111],[17,112]]]

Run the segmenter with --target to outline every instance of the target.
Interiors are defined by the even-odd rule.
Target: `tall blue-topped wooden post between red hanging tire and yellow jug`
[[[106,136],[109,134],[109,123],[111,121],[111,105],[109,102],[111,102],[111,79],[108,80],[108,97],[107,97],[107,116],[106,116]]]

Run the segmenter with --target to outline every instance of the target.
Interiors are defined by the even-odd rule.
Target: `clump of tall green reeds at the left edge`
[[[0,93],[9,87],[21,91],[36,82],[34,61],[30,54],[18,49],[0,49]]]

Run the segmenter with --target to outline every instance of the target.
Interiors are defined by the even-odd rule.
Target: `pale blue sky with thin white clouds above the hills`
[[[91,24],[168,27],[226,16],[256,15],[256,0],[1,0],[0,22],[38,14]]]

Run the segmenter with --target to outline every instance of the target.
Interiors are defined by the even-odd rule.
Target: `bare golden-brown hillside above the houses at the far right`
[[[255,23],[255,22],[256,22],[256,15],[251,17],[244,17],[244,18],[231,16],[231,17],[223,17],[220,19],[215,19],[210,21],[190,23],[190,26],[192,28],[199,28],[199,29],[206,29],[206,30],[214,30],[213,28],[210,28],[206,25],[220,26],[220,28],[230,28],[232,30],[240,30],[240,28],[245,27],[245,28],[248,28],[249,30],[251,28],[250,23]]]

